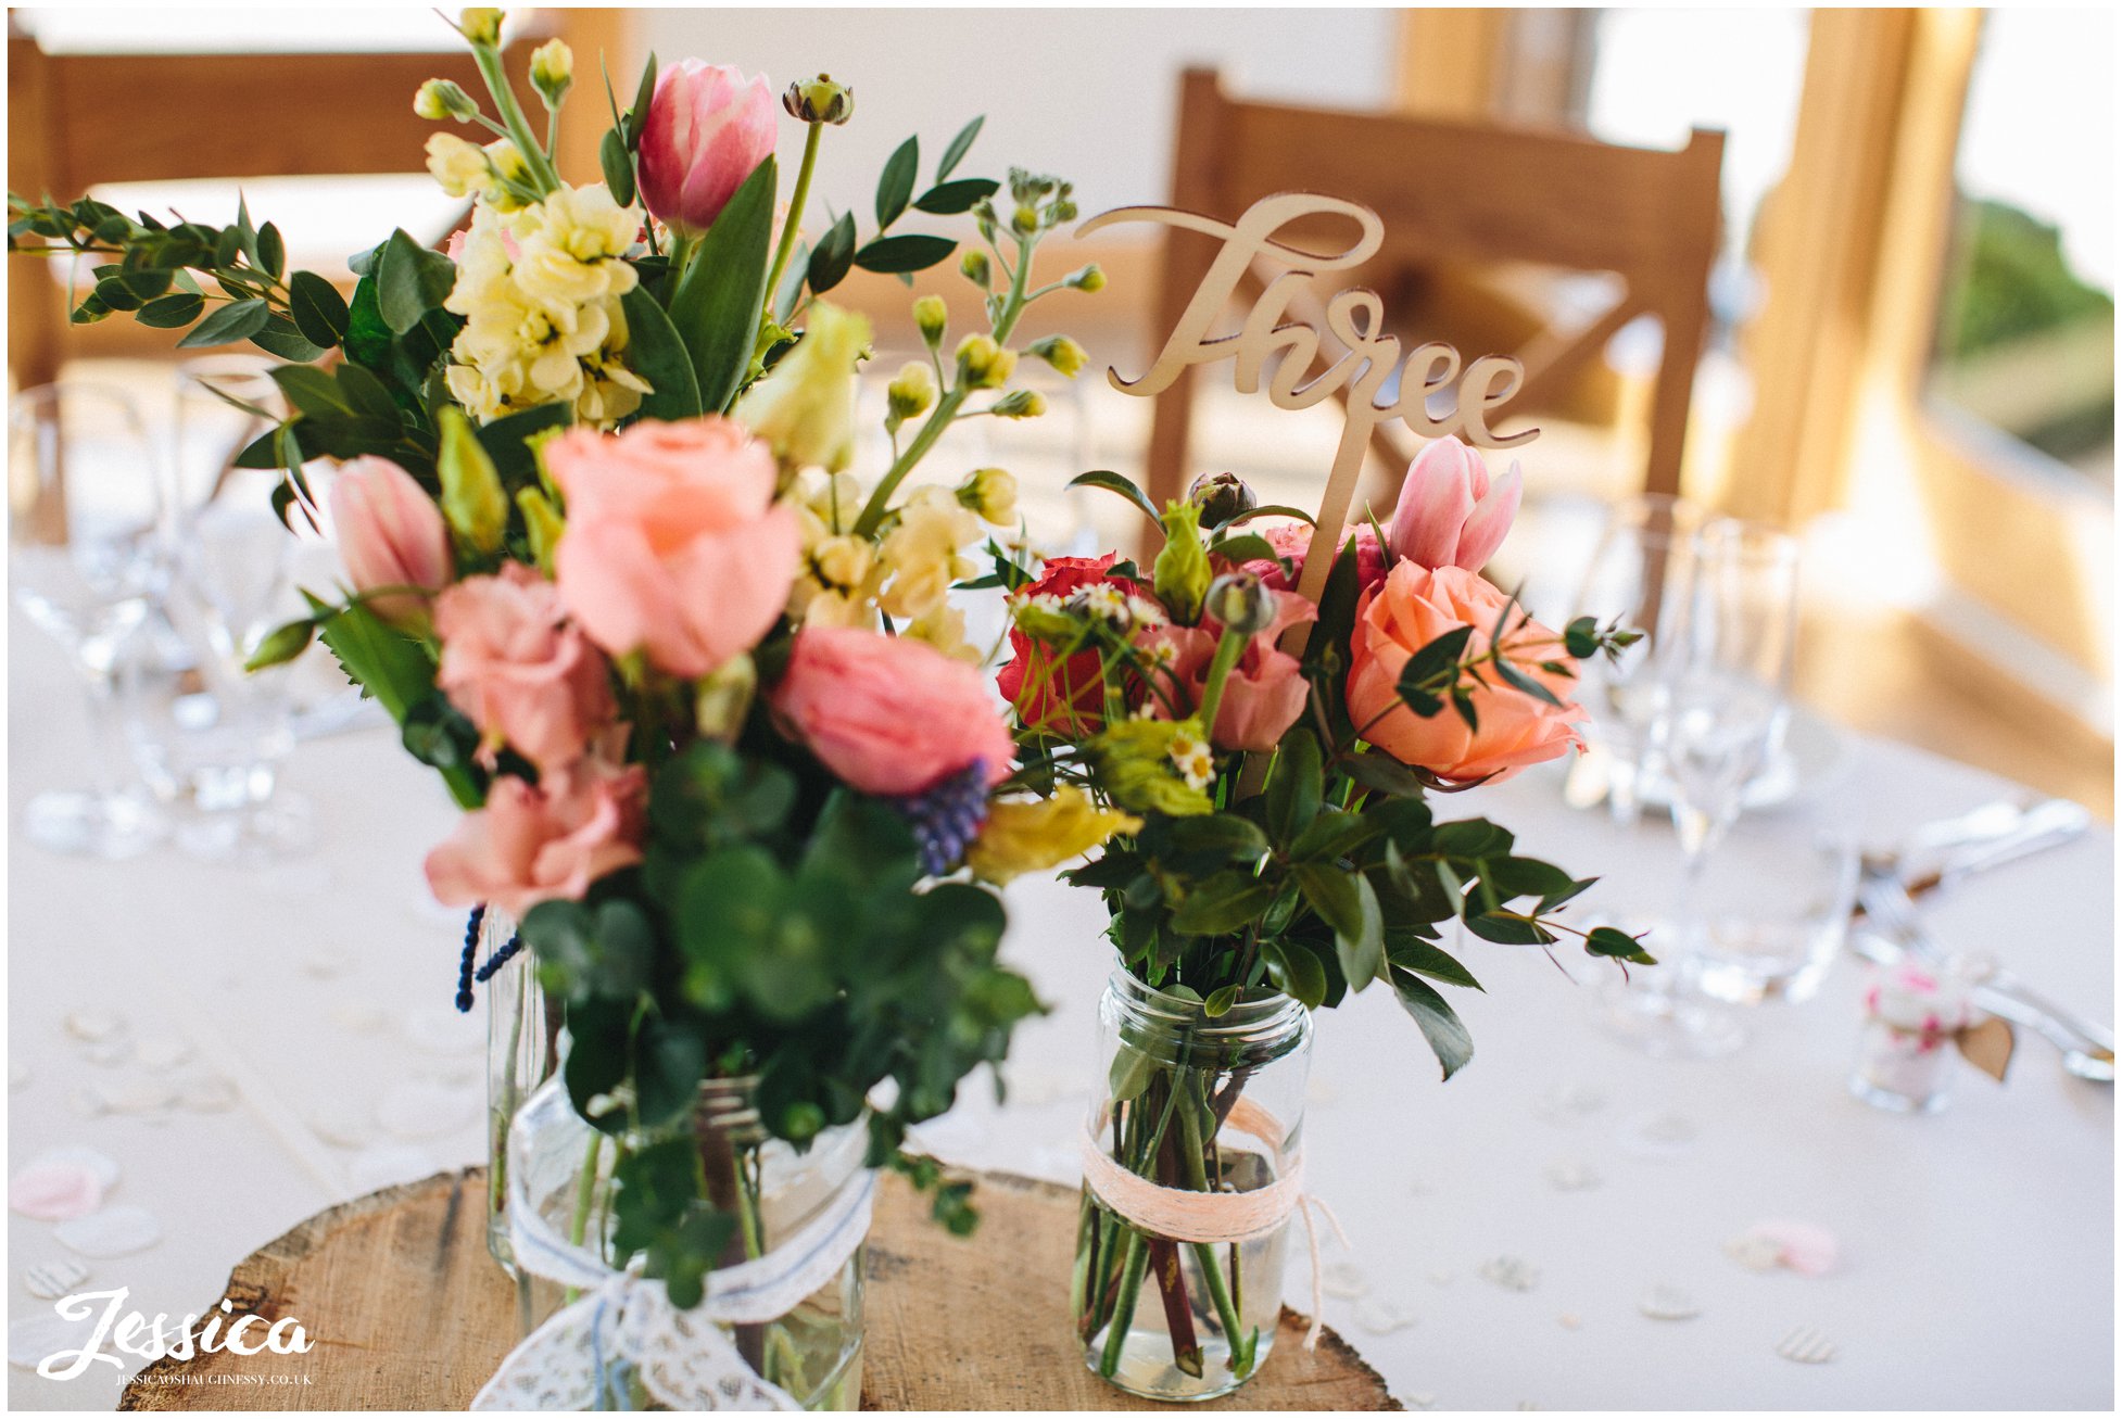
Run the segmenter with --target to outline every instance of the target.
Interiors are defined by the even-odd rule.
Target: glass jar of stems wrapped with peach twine
[[[1114,971],[1097,1039],[1069,1287],[1084,1362],[1150,1400],[1229,1394],[1282,1317],[1311,1012],[1267,993],[1210,1016]]]

